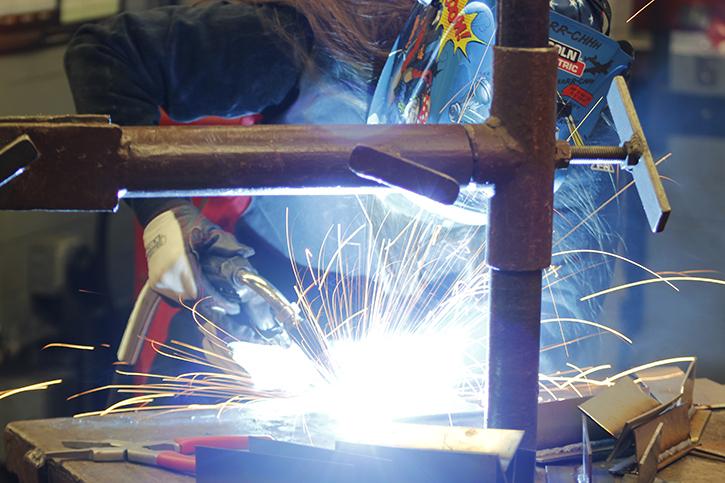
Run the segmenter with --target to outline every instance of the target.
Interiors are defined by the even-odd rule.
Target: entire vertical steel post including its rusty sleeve
[[[556,54],[547,48],[547,0],[501,0],[497,8],[492,116],[522,159],[511,177],[496,180],[491,200],[486,423],[525,431],[515,481],[534,481],[541,277],[551,263]]]

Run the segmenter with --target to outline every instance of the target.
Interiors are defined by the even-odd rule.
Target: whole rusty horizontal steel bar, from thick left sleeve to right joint
[[[112,211],[119,198],[366,192],[395,186],[443,203],[471,181],[508,180],[523,148],[480,126],[120,127],[105,116],[0,120],[39,158],[0,190],[0,209]]]

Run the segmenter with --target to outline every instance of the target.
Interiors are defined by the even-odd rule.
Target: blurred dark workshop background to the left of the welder
[[[69,35],[84,21],[170,3],[0,1],[0,116],[74,112],[63,71]],[[118,344],[132,302],[133,240],[125,206],[113,215],[0,211],[0,389],[56,378],[68,384],[4,400],[0,427],[104,402],[65,398],[107,383],[115,349],[40,349],[48,342]]]

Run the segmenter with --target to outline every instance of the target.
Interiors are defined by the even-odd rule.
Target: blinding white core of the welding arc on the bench
[[[368,334],[336,341],[327,379],[299,348],[238,342],[230,347],[255,386],[293,396],[297,408],[327,414],[350,434],[368,424],[471,410],[459,395],[469,375],[466,345],[455,334]]]

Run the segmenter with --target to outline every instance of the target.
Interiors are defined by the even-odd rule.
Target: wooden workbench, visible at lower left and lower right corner
[[[284,433],[284,439],[304,440],[300,431],[292,431],[291,422],[262,424],[248,414],[229,412],[220,419],[216,412],[187,412],[158,415],[111,415],[84,419],[45,419],[18,421],[5,429],[8,469],[23,482],[41,483],[140,483],[164,481],[189,483],[190,476],[130,463],[93,463],[87,461],[48,461],[44,453],[64,449],[64,440],[122,439],[130,441],[169,440],[181,436],[215,434]],[[319,427],[318,427],[319,429]],[[313,428],[314,430],[314,428]],[[324,439],[324,436],[318,436]],[[703,437],[721,446],[725,442],[725,411],[713,412]],[[331,441],[315,441],[329,444]],[[725,463],[697,456],[688,456],[665,468],[659,477],[668,482],[725,481]]]

